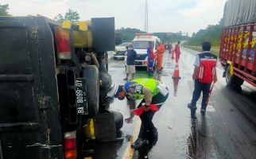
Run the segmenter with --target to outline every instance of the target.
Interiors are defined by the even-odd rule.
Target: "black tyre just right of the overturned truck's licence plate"
[[[99,111],[99,70],[95,65],[85,66],[83,78],[87,84],[88,115],[94,117]]]

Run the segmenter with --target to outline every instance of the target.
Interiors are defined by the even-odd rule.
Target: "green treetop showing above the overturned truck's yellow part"
[[[68,12],[63,16],[62,14],[57,14],[54,18],[55,21],[78,21],[80,19],[80,14],[76,11],[68,9]]]

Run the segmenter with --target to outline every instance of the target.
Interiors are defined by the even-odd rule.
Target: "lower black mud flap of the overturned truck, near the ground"
[[[97,114],[94,118],[96,142],[116,141],[114,115],[112,113]]]

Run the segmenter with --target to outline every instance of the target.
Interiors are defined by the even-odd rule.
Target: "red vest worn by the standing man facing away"
[[[196,72],[196,79],[201,83],[211,83],[216,76],[217,56],[211,52],[198,54],[200,57],[200,66]]]

